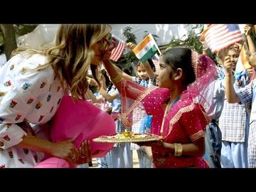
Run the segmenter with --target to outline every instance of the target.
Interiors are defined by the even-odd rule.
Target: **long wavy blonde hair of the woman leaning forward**
[[[28,56],[35,53],[46,55],[48,63],[36,70],[43,70],[51,65],[60,78],[61,85],[68,86],[73,99],[85,99],[88,87],[87,70],[95,55],[92,46],[108,33],[110,26],[107,24],[61,24],[55,38],[55,46],[44,50],[17,48],[13,54],[26,50]],[[92,73],[96,74],[97,68],[92,70]],[[99,83],[96,76],[95,78]]]

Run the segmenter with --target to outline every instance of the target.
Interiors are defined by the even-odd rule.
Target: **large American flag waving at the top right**
[[[205,34],[205,45],[215,53],[242,40],[238,24],[211,24]]]

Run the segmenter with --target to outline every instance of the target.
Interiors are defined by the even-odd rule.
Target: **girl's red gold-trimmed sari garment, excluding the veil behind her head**
[[[125,108],[123,108],[122,118],[127,124],[130,123],[129,113],[133,106],[136,106],[137,102],[142,102],[146,113],[153,115],[151,133],[163,135],[164,142],[190,144],[205,136],[206,125],[210,122],[210,118],[203,107],[196,100],[193,100],[189,92],[184,91],[179,100],[171,107],[164,120],[163,132],[161,133],[166,102],[170,99],[169,90],[159,87],[144,90],[137,86],[134,87],[132,82],[128,81],[123,81],[121,87],[122,95],[133,99],[135,99],[135,95],[139,95],[129,110],[124,112]],[[123,103],[127,103],[127,98],[122,97],[122,99]],[[169,149],[164,147],[152,147],[152,153],[156,168],[209,167],[201,156],[174,156],[169,152]]]

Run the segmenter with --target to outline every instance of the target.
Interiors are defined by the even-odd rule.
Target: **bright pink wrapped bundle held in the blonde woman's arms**
[[[53,142],[61,142],[78,136],[73,142],[77,148],[85,139],[90,139],[92,157],[94,158],[105,156],[114,144],[92,142],[92,139],[113,134],[116,134],[115,123],[109,114],[85,100],[73,102],[67,95],[60,103],[50,132]],[[68,161],[64,159],[50,157],[36,166],[36,168],[43,167],[73,167],[73,165],[68,164]]]

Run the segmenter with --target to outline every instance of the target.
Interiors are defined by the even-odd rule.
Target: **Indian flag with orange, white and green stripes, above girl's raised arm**
[[[156,51],[159,50],[153,36],[149,33],[141,43],[139,43],[132,51],[142,62],[150,59]]]

